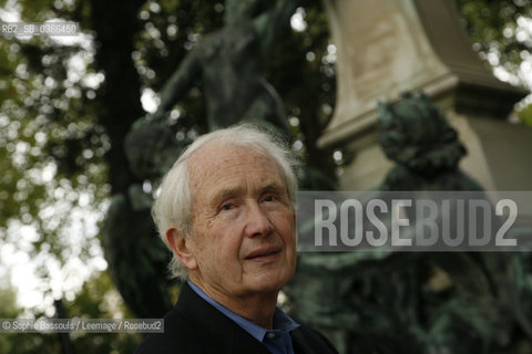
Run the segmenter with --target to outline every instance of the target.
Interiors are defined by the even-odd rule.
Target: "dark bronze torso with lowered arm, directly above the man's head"
[[[283,103],[262,69],[275,39],[288,29],[297,1],[269,3],[226,0],[225,27],[205,35],[180,63],[153,117],[163,116],[201,80],[209,131],[254,121],[287,132]]]

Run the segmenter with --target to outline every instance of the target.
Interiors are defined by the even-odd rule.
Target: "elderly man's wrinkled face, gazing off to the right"
[[[296,266],[295,214],[274,160],[249,148],[205,146],[190,162],[187,247],[193,282],[209,295],[278,291]]]

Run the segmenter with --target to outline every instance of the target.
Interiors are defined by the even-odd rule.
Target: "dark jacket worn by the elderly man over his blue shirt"
[[[299,326],[290,333],[296,354],[337,353],[320,333]],[[164,316],[164,333],[147,335],[135,354],[269,354],[239,325],[184,284]]]

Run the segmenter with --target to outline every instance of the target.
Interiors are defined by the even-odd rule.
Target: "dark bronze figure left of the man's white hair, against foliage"
[[[136,183],[111,198],[103,228],[110,273],[124,302],[135,315],[162,316],[172,308],[166,277],[170,252],[156,239],[151,217],[153,197],[143,183],[161,176],[180,155],[178,142],[163,122],[139,119],[127,134],[125,152]]]

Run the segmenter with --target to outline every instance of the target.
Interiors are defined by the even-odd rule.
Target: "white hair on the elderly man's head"
[[[293,207],[295,205],[297,177],[294,169],[298,166],[298,160],[294,157],[294,154],[283,139],[272,134],[272,132],[265,132],[250,124],[238,125],[202,135],[183,152],[164,176],[161,184],[160,196],[152,208],[152,216],[155,220],[158,236],[168,249],[170,244],[166,240],[166,230],[170,228],[174,227],[178,232],[187,237],[192,236],[191,212],[193,207],[193,190],[191,190],[188,163],[195,152],[213,143],[250,148],[259,154],[264,154],[264,156],[270,157],[279,167],[282,176],[285,179],[288,197]],[[173,278],[180,278],[181,280],[188,278],[188,270],[180,262],[174,253],[168,264],[168,270]]]

